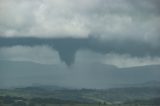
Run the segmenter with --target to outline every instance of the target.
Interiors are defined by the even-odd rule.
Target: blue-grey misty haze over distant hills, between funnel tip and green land
[[[93,63],[67,67],[65,65],[0,61],[0,67],[2,69],[1,88],[23,87],[39,83],[70,88],[105,89],[160,81],[160,65],[117,68],[113,65]]]

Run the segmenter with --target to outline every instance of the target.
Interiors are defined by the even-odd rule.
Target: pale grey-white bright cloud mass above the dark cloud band
[[[1,0],[0,36],[159,39],[159,0]]]

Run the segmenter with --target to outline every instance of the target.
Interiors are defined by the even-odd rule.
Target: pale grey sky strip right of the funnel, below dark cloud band
[[[99,54],[96,52],[91,52],[89,50],[80,50],[76,54],[76,59],[74,64],[90,64],[90,63],[101,63],[106,65],[113,65],[118,68],[124,67],[137,67],[137,66],[147,66],[147,65],[159,65],[159,56],[131,56],[130,54],[116,54],[107,53]]]

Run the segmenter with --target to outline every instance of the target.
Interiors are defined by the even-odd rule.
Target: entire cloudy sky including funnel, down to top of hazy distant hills
[[[0,0],[2,63],[160,65],[159,34],[159,0]]]

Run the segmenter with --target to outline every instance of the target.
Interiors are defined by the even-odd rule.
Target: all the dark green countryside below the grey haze
[[[0,90],[0,106],[157,106],[159,101],[160,87]]]

